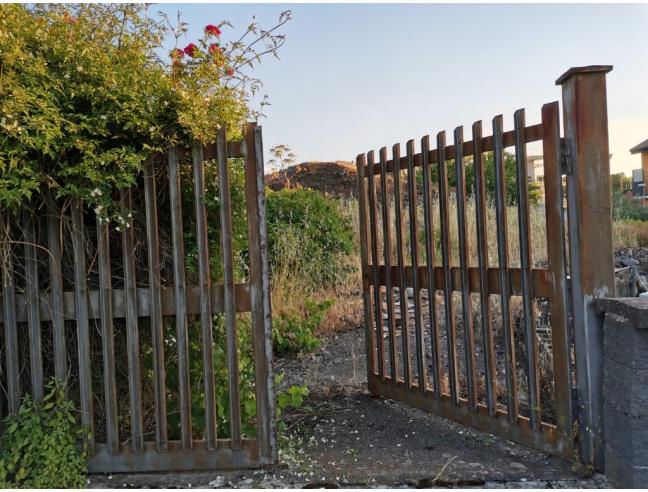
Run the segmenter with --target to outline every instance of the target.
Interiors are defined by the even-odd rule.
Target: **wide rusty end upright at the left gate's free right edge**
[[[263,139],[261,127],[248,123],[245,128],[245,202],[248,217],[250,255],[250,303],[255,360],[257,439],[260,455],[276,463],[274,374],[272,371],[272,316],[270,309],[270,271],[266,230]]]

